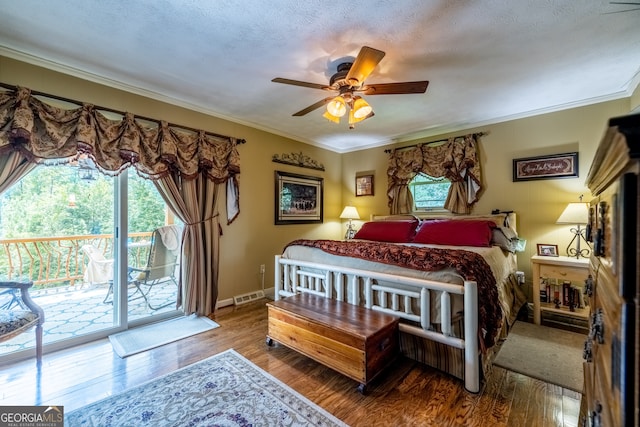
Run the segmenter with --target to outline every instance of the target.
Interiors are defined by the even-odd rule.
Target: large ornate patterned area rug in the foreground
[[[346,426],[227,350],[65,415],[65,426]]]

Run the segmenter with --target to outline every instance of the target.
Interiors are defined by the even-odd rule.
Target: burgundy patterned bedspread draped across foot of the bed
[[[356,257],[423,271],[453,268],[465,280],[478,284],[478,330],[484,351],[496,342],[502,327],[498,289],[489,264],[481,255],[461,249],[405,246],[383,242],[339,240],[294,240],[287,246],[301,245],[339,256]]]

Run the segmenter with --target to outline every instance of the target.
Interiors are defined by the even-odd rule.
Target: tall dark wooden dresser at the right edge
[[[618,117],[594,157],[587,186],[593,296],[584,349],[585,425],[639,425],[640,115]]]

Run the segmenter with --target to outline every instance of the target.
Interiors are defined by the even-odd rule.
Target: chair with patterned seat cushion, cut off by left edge
[[[36,364],[42,366],[42,324],[44,311],[31,299],[29,288],[32,281],[0,278],[0,289],[20,292],[21,304],[0,310],[0,342],[10,340],[36,327]],[[13,294],[13,293],[12,293]],[[10,306],[9,306],[10,307]]]

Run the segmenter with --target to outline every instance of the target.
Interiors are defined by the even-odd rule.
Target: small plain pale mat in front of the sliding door
[[[118,356],[127,357],[219,326],[193,314],[109,335],[109,341]]]

